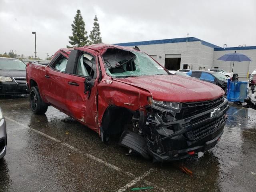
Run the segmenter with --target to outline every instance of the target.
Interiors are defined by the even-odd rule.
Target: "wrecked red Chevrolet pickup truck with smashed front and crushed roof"
[[[138,47],[94,44],[28,63],[30,106],[49,105],[99,134],[120,136],[132,154],[178,160],[213,148],[228,117],[219,86],[172,75]]]

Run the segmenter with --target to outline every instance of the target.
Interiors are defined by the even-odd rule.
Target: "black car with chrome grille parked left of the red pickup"
[[[18,59],[0,57],[0,95],[28,94],[26,64]]]

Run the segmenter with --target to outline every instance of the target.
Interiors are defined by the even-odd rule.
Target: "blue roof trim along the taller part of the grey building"
[[[140,45],[153,45],[153,44],[165,44],[165,43],[181,43],[186,42],[187,38],[174,38],[174,39],[162,39],[162,40],[152,40],[152,41],[138,41],[138,42],[129,42],[129,43],[116,43],[114,45],[120,46],[140,46]],[[201,41],[203,45],[211,47],[211,48],[220,48],[214,44],[208,43],[206,41],[200,40],[195,37],[189,37],[188,42]]]

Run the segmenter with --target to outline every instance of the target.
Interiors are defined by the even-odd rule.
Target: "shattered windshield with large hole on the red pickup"
[[[142,52],[108,49],[103,54],[106,72],[112,77],[167,75],[162,66]]]

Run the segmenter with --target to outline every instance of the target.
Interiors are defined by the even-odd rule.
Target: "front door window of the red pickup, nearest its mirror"
[[[89,54],[82,54],[77,63],[77,75],[92,77],[96,76],[96,61],[95,58]]]

